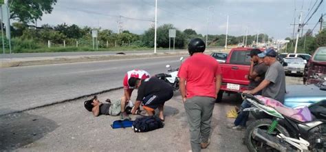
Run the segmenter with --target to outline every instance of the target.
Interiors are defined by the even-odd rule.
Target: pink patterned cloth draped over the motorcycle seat
[[[281,102],[279,102],[278,100],[274,100],[272,98],[267,98],[259,95],[254,97],[263,101],[265,105],[268,105],[269,107],[273,107],[279,113],[282,113],[283,115],[288,116],[290,118],[294,118],[295,120],[301,122],[308,122],[312,120],[312,113],[310,113],[308,107],[292,109],[289,107],[285,107]]]

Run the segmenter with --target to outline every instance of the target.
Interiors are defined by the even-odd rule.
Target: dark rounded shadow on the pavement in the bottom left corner
[[[24,112],[1,116],[0,149],[12,151],[31,144],[57,127],[58,124],[53,120]]]

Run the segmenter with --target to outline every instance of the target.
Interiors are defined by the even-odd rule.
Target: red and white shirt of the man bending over
[[[123,78],[123,88],[124,89],[134,89],[133,87],[129,87],[128,80],[129,78],[140,78],[142,80],[149,78],[149,72],[146,72],[145,70],[142,69],[133,69],[129,72],[127,72],[126,75],[124,75]]]

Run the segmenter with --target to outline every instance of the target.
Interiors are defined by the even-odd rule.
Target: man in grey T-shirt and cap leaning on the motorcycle
[[[265,79],[254,89],[243,91],[243,93],[257,94],[262,90],[262,96],[273,98],[283,104],[285,98],[285,72],[281,63],[276,59],[277,52],[269,48],[258,54],[258,56],[263,58],[265,65],[268,65]]]

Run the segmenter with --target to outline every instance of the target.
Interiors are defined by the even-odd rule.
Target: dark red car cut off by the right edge
[[[317,50],[305,65],[303,72],[303,83],[318,83],[316,76],[326,74],[326,47],[318,47]]]

